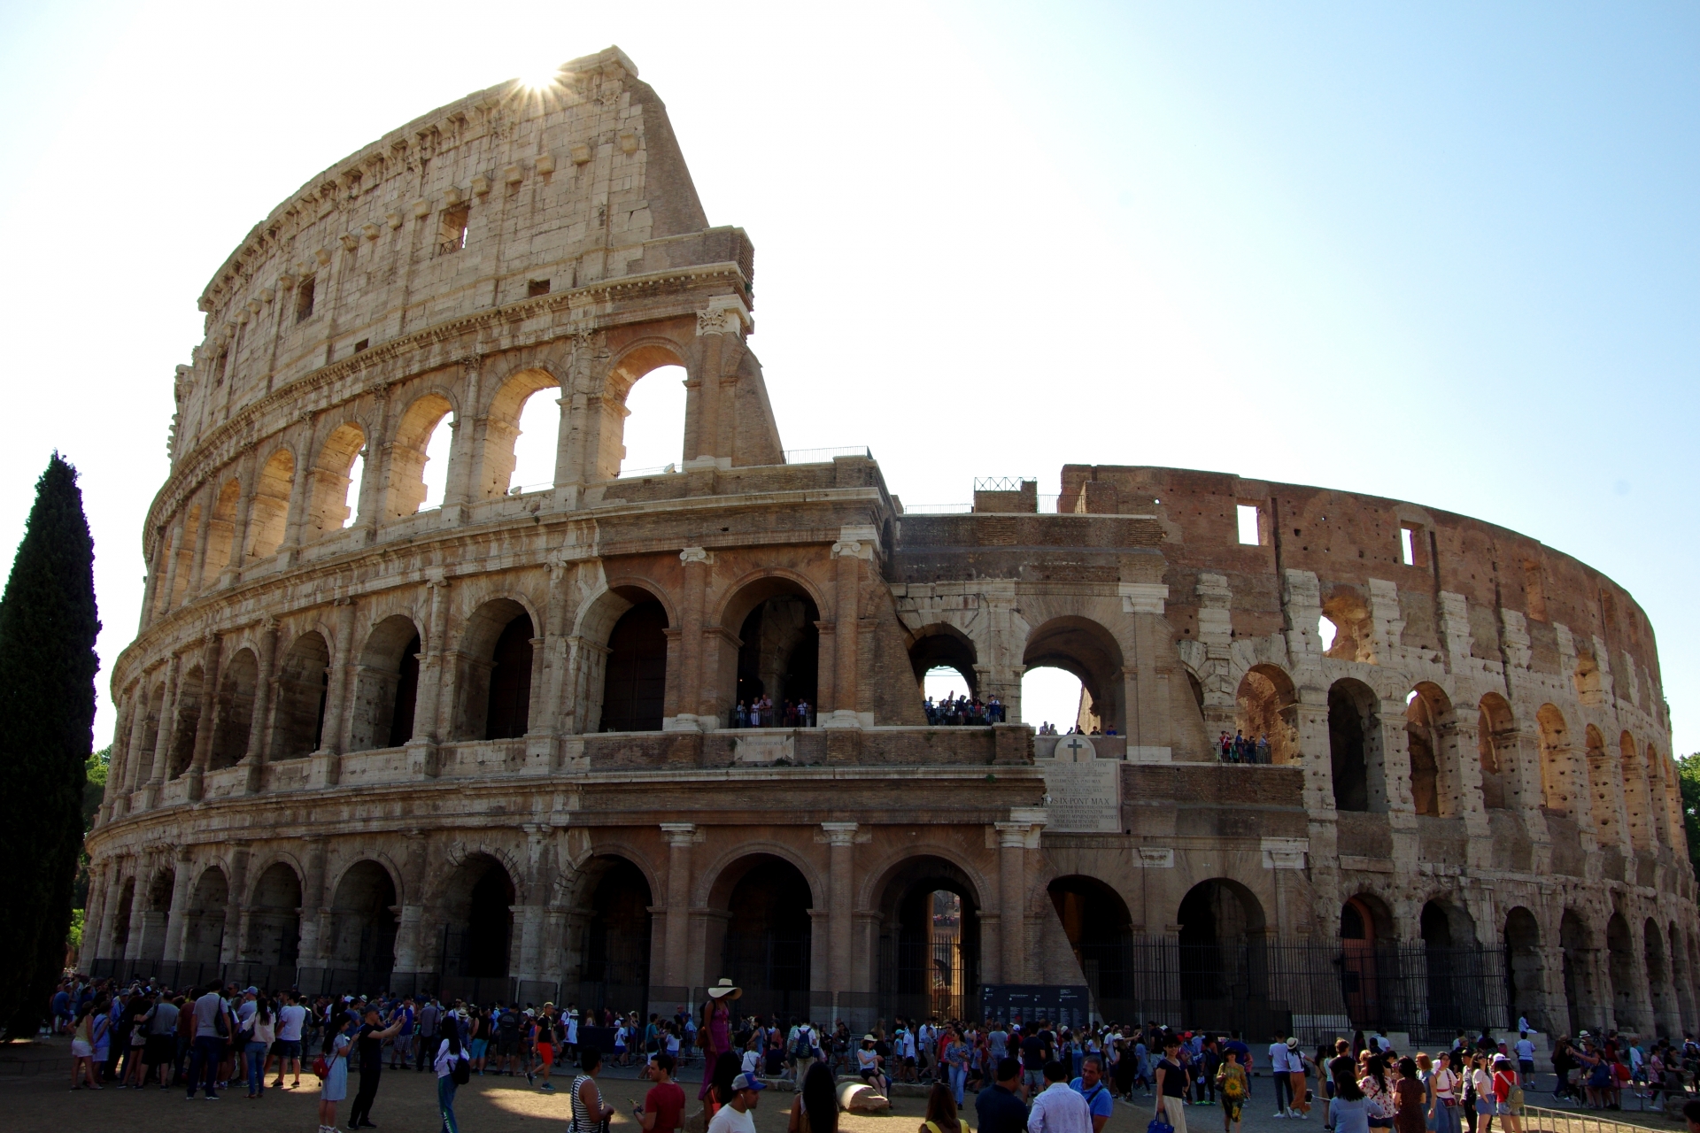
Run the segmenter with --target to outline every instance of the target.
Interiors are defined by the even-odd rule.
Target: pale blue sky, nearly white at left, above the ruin
[[[609,42],[756,243],[787,447],[867,443],[915,503],[1149,462],[1503,523],[1635,595],[1700,747],[1693,5],[8,3],[0,542],[58,445],[107,661],[212,270]]]

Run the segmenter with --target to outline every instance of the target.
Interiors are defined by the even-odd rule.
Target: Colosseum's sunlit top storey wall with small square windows
[[[357,350],[544,289],[706,263],[704,248],[646,248],[706,228],[666,109],[619,49],[568,63],[554,90],[468,95],[311,178],[226,260],[178,370],[173,462]]]

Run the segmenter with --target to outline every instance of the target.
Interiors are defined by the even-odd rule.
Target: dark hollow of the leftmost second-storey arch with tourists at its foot
[[[808,727],[819,705],[821,612],[814,598],[785,578],[745,586],[726,608],[738,625],[734,700],[760,727]],[[799,722],[797,705],[808,705]],[[758,715],[750,715],[758,713]],[[733,713],[736,720],[736,710]]]

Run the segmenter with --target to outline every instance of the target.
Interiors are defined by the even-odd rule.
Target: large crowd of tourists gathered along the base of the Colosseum
[[[964,1133],[959,1111],[969,1092],[983,1133],[1102,1133],[1117,1102],[1149,1108],[1173,1133],[1187,1133],[1190,1108],[1214,1106],[1224,1133],[1238,1133],[1255,1074],[1270,1077],[1275,1118],[1314,1114],[1333,1133],[1493,1133],[1494,1118],[1503,1133],[1522,1133],[1518,1114],[1535,1072],[1527,1031],[1508,1045],[1460,1031],[1450,1048],[1433,1053],[1397,1051],[1386,1036],[1362,1031],[1316,1048],[1277,1034],[1266,1053],[1255,1053],[1238,1033],[1158,1023],[1051,1026],[937,1016],[876,1023],[857,1036],[843,1019],[818,1026],[736,1014],[740,994],[721,980],[700,1009],[678,1006],[672,1016],[643,1019],[552,1002],[308,997],[236,985],[173,992],[76,977],[53,995],[49,1026],[71,1040],[73,1091],[178,1089],[216,1101],[245,1085],[248,1099],[264,1099],[267,1089],[301,1089],[306,1072],[320,1092],[321,1133],[338,1128],[343,1102],[342,1128],[376,1128],[372,1108],[386,1067],[435,1075],[447,1133],[459,1133],[456,1089],[474,1075],[524,1077],[547,1094],[556,1068],[576,1067],[571,1109],[580,1128],[592,1128],[612,1114],[595,1084],[604,1048],[612,1065],[643,1067],[654,1082],[634,1113],[644,1133],[682,1128],[685,1096],[673,1079],[697,1060],[699,1116],[709,1133],[753,1133],[748,1111],[775,1079],[801,1084],[794,1116],[806,1113],[809,1121],[801,1130],[792,1123],[792,1133],[818,1133],[824,1118],[808,1106],[824,1104],[826,1094],[836,1113],[840,1079],[860,1079],[881,1094],[894,1082],[930,1085],[933,1128],[923,1125],[920,1133]],[[350,1063],[359,1072],[352,1099]],[[1557,1099],[1618,1109],[1625,1092],[1647,1102],[1688,1097],[1700,1043],[1690,1036],[1680,1046],[1666,1040],[1642,1046],[1617,1033],[1579,1031],[1557,1040],[1552,1067]],[[1688,1104],[1700,1118],[1700,1101]]]

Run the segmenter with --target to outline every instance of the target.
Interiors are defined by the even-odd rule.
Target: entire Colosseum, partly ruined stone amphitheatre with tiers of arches
[[[248,233],[177,367],[85,967],[660,1011],[726,977],[853,1026],[1068,997],[1040,985],[1253,1033],[1700,1029],[1622,588],[1226,472],[906,511],[867,450],[784,448],[753,262],[614,48]],[[622,472],[661,367],[678,462]],[[513,484],[534,396],[554,479]],[[1022,722],[1046,666],[1080,734]],[[1005,719],[930,722],[938,668]],[[763,693],[809,708],[738,727]]]

